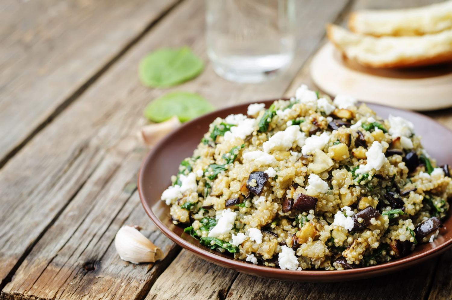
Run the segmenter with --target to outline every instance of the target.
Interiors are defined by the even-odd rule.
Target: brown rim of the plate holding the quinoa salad
[[[414,255],[413,257],[404,257],[399,258],[391,262],[386,262],[381,265],[375,265],[375,266],[369,266],[369,267],[360,267],[356,269],[348,269],[348,270],[334,270],[334,271],[326,271],[326,270],[301,270],[301,271],[291,271],[291,270],[282,270],[280,268],[275,267],[267,267],[263,265],[254,265],[250,264],[248,262],[243,262],[239,260],[235,260],[233,258],[226,258],[222,257],[220,255],[214,254],[212,252],[209,252],[205,250],[204,248],[197,245],[193,245],[192,243],[189,243],[184,238],[180,237],[176,233],[174,233],[172,230],[170,230],[165,224],[163,224],[160,219],[154,214],[151,207],[147,204],[145,200],[145,196],[142,189],[142,180],[143,180],[143,169],[144,167],[149,163],[149,160],[154,155],[155,152],[158,151],[158,149],[166,143],[166,141],[172,136],[178,132],[179,130],[183,130],[185,127],[189,127],[191,124],[198,122],[201,118],[210,118],[212,115],[221,113],[226,110],[231,110],[235,107],[243,107],[245,105],[250,105],[253,103],[265,103],[265,106],[267,107],[270,103],[272,103],[275,100],[288,100],[288,98],[278,98],[278,99],[271,99],[271,100],[260,100],[260,101],[251,101],[251,102],[245,102],[240,103],[236,105],[229,105],[223,108],[220,108],[218,110],[212,111],[208,114],[204,114],[196,119],[190,120],[185,124],[182,124],[182,126],[174,129],[169,134],[165,136],[162,140],[160,140],[147,154],[146,157],[141,162],[140,170],[138,173],[138,179],[137,179],[137,190],[140,196],[141,205],[143,206],[144,210],[146,211],[146,214],[150,217],[151,221],[155,224],[155,226],[163,233],[166,237],[170,238],[174,243],[178,244],[182,248],[192,252],[196,256],[207,260],[209,262],[215,263],[221,267],[227,267],[230,269],[234,269],[236,271],[241,271],[242,269],[246,269],[248,274],[259,274],[259,276],[267,277],[267,278],[274,278],[274,279],[281,279],[285,278],[286,280],[291,281],[315,281],[315,279],[321,278],[323,281],[338,281],[337,277],[344,276],[344,278],[341,278],[340,281],[347,281],[347,280],[353,280],[358,275],[366,274],[366,277],[373,277],[373,276],[379,276],[383,273],[391,272],[391,269],[394,269],[393,271],[402,270],[408,267],[411,267],[415,263],[424,262],[425,260],[431,259],[433,257],[438,256],[439,254],[445,252],[447,249],[452,247],[452,238],[449,238],[445,242],[441,243],[435,248],[432,248],[430,250],[427,250],[425,252],[419,253]],[[416,114],[418,117],[423,119],[428,119],[430,122],[434,122],[443,129],[446,129],[452,134],[452,130],[448,129],[443,124],[438,123],[434,119],[424,115],[420,114],[415,111],[410,110],[404,110],[400,108],[395,108],[387,105],[380,105],[375,103],[367,103],[364,101],[360,101],[360,103],[365,103],[369,107],[372,108],[372,106],[381,106],[384,108],[389,108],[391,110],[400,110],[409,112],[411,114]],[[449,216],[450,217],[450,216]],[[450,229],[448,229],[450,230]],[[272,276],[273,275],[273,276]],[[312,277],[312,278],[309,278]],[[364,278],[364,277],[363,277]]]

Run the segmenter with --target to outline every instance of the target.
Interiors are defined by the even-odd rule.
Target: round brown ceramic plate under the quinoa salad
[[[262,101],[267,107],[273,100]],[[154,224],[171,240],[193,254],[219,266],[230,268],[250,275],[291,281],[348,281],[379,276],[400,271],[446,251],[452,246],[452,218],[447,218],[438,238],[433,243],[418,245],[409,256],[386,264],[343,271],[289,271],[279,268],[253,265],[234,260],[232,256],[222,254],[201,246],[196,239],[184,233],[183,227],[171,222],[170,209],[160,200],[161,193],[171,184],[170,176],[178,171],[179,162],[193,155],[209,124],[217,118],[229,114],[246,114],[248,104],[228,107],[194,119],[176,129],[158,143],[144,160],[139,178],[138,190],[141,203]],[[378,115],[387,119],[389,114],[399,115],[415,124],[416,134],[422,136],[422,143],[438,165],[451,163],[452,132],[422,114],[398,110],[387,106],[368,104]]]

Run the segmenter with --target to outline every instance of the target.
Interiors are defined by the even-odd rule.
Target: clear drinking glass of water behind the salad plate
[[[292,62],[294,0],[206,0],[207,55],[218,75],[256,83]]]

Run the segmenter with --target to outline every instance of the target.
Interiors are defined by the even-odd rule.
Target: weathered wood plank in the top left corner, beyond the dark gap
[[[2,1],[0,167],[176,2]]]

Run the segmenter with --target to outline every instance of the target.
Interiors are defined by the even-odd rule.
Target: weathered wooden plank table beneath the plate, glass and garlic
[[[326,22],[357,8],[428,0],[298,1],[292,67],[259,85],[216,76],[206,56],[200,0],[3,0],[0,5],[1,299],[451,299],[452,251],[390,276],[313,284],[217,267],[181,250],[141,208],[135,139],[144,106],[168,90],[217,107],[294,95],[311,84],[310,57]],[[141,86],[153,49],[189,45],[201,76],[173,89]],[[428,113],[452,128],[452,110]],[[418,124],[419,125],[419,124]],[[136,224],[165,252],[154,264],[119,259],[115,233]]]

